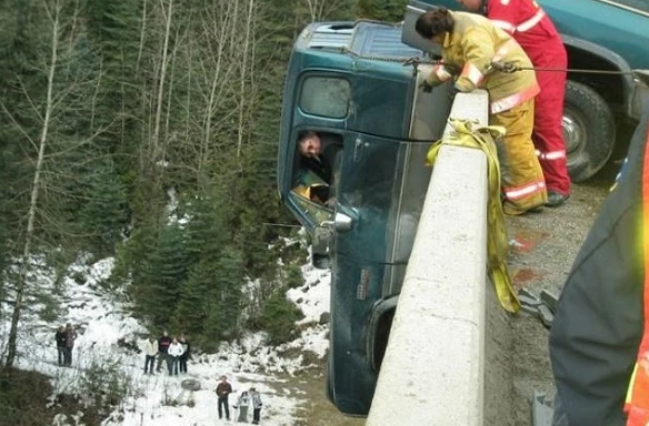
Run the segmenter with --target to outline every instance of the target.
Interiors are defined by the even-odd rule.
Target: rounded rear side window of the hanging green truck
[[[312,115],[342,119],[349,111],[349,81],[333,77],[309,77],[302,83],[300,109]]]

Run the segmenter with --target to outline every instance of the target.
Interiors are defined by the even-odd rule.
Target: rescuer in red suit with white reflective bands
[[[543,9],[533,0],[456,0],[471,12],[481,12],[525,50],[535,68],[565,70],[566,48]],[[549,207],[570,197],[570,176],[566,165],[566,141],[561,130],[566,71],[537,71],[541,92],[535,98],[532,142],[548,187]]]

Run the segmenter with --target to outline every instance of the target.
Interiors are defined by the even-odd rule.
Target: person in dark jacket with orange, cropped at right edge
[[[649,424],[649,103],[550,329],[553,426]]]

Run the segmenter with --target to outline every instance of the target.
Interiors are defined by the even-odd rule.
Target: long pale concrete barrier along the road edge
[[[485,91],[456,97],[451,116],[488,120]],[[447,125],[448,132],[448,125]],[[487,159],[443,146],[431,181],[390,339],[368,415],[369,426],[507,425],[497,402],[507,363],[507,317],[487,278]],[[496,336],[486,337],[486,306]],[[491,345],[486,356],[486,342]],[[502,345],[502,348],[495,347]],[[496,365],[486,369],[486,358]],[[503,385],[505,384],[505,385]],[[485,388],[490,393],[485,397]],[[503,395],[507,390],[503,390]],[[507,399],[507,397],[505,397]],[[507,400],[499,406],[508,407]],[[500,417],[500,419],[496,419]]]

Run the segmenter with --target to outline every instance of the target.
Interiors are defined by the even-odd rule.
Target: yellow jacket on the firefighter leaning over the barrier
[[[532,67],[522,48],[507,32],[487,18],[467,12],[449,12],[455,28],[442,41],[442,63],[433,68],[427,81],[442,83],[459,73],[456,87],[462,92],[476,88],[489,91],[490,113],[510,110],[539,93],[535,72],[499,72],[491,62],[503,61],[516,67]]]

